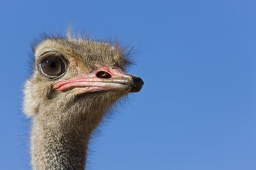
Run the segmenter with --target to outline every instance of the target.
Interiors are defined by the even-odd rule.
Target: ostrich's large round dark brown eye
[[[61,75],[65,71],[65,64],[58,56],[49,56],[41,64],[41,71],[50,77]]]

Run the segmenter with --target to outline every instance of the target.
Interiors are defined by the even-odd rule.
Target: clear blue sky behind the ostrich
[[[101,128],[88,169],[256,169],[256,1],[1,1],[0,169],[31,169],[21,111],[30,42],[75,29],[138,49],[145,81]]]

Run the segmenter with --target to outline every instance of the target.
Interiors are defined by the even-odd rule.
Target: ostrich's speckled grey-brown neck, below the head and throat
[[[89,130],[86,123],[74,124],[60,128],[34,117],[31,137],[34,170],[85,169],[87,143],[94,127]]]

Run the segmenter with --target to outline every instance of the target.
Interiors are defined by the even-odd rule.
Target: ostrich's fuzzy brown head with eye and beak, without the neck
[[[120,45],[85,38],[50,37],[34,47],[34,73],[25,83],[23,110],[45,127],[85,124],[90,132],[122,96],[138,92],[140,77]]]

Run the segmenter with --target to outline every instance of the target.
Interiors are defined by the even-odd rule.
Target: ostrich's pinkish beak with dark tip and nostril
[[[96,66],[97,69],[89,75],[79,73],[75,79],[56,82],[53,89],[67,91],[79,88],[78,94],[103,90],[136,93],[144,84],[140,77],[125,73],[116,66]]]

